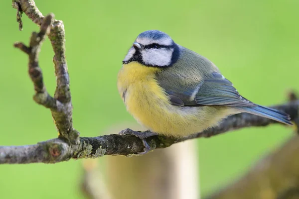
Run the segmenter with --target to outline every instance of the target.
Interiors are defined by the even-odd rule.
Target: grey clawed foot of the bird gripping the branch
[[[150,136],[157,135],[157,134],[154,132],[151,132],[151,131],[140,132],[140,131],[134,131],[130,128],[127,128],[127,129],[119,132],[119,135],[135,135],[136,137],[140,138],[142,140],[142,143],[143,143],[145,149],[143,152],[138,152],[138,154],[144,155],[144,154],[149,153],[149,151],[150,151],[150,146],[149,146],[149,143],[146,141],[146,138],[148,138]]]

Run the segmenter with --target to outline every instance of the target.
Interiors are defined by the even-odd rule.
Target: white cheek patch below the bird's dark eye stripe
[[[171,63],[172,52],[172,48],[145,49],[142,60],[146,65],[167,66]]]

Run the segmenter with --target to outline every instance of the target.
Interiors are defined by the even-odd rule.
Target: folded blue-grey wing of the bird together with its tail
[[[292,125],[290,116],[279,110],[255,104],[243,98],[233,87],[233,84],[225,79],[220,73],[213,72],[209,78],[199,83],[197,87],[188,91],[172,93],[170,102],[176,106],[203,106],[203,105],[226,105],[235,106],[242,112],[267,117],[285,124]],[[167,91],[166,91],[167,92]],[[180,98],[176,97],[180,96]]]

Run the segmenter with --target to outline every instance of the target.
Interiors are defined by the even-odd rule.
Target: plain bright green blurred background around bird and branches
[[[64,21],[73,120],[82,136],[135,122],[119,97],[116,77],[136,36],[149,29],[164,31],[212,60],[254,102],[282,103],[286,91],[298,85],[298,0],[35,2],[43,14],[53,12]],[[35,144],[57,135],[49,110],[32,100],[27,56],[12,46],[15,41],[28,43],[38,27],[23,15],[24,28],[18,31],[15,12],[11,0],[0,1],[0,145]],[[55,89],[52,56],[47,39],[40,66],[49,93]],[[238,178],[291,131],[272,125],[199,139],[201,194]],[[80,160],[0,165],[0,198],[82,199],[77,189],[81,167]]]

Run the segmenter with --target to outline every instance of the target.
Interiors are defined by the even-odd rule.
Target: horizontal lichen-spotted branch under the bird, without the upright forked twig
[[[298,117],[299,100],[272,106]],[[232,115],[218,127],[205,130],[183,139],[174,139],[156,135],[147,138],[150,148],[165,148],[188,139],[211,137],[231,130],[250,126],[267,126],[276,121],[248,113]],[[57,163],[69,159],[98,158],[104,155],[136,154],[144,150],[142,141],[132,135],[103,135],[98,137],[81,137],[79,145],[69,144],[65,139],[57,138],[27,146],[0,146],[0,164]]]

